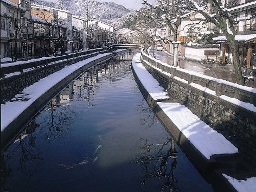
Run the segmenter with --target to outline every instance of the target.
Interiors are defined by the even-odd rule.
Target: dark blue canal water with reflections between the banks
[[[6,191],[213,191],[140,93],[131,61],[81,74],[2,154]]]

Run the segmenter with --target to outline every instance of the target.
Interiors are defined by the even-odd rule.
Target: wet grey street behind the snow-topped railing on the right
[[[151,55],[153,55],[152,52],[153,51],[151,50]],[[172,55],[168,54],[165,51],[155,51],[155,54],[156,59],[172,65]],[[187,59],[180,59],[179,65],[181,68],[188,69],[189,71],[194,71],[200,74],[212,76],[217,79],[223,79],[234,83],[237,82],[233,65],[211,66],[203,64],[201,62],[190,61]],[[244,72],[245,70],[245,68],[242,68],[242,72]],[[254,76],[254,79],[246,79],[246,86],[256,88],[256,77]]]

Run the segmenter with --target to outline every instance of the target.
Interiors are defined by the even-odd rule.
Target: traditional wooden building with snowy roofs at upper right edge
[[[234,18],[249,18],[256,14],[255,0],[222,0],[222,3]],[[252,68],[256,65],[256,17],[240,21],[236,30],[235,41],[238,44],[241,66]],[[227,60],[232,62],[226,37],[220,30],[215,30],[215,34],[219,35],[213,41],[221,44],[222,63]]]

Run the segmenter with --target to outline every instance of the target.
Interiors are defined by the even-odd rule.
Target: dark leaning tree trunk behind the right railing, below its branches
[[[233,56],[235,74],[236,74],[236,79],[238,81],[238,84],[245,85],[244,79],[242,78],[242,69],[241,69],[241,63],[239,60],[238,49],[235,43],[235,36],[231,34],[225,34],[225,36],[227,37],[229,48],[231,49],[231,53]]]

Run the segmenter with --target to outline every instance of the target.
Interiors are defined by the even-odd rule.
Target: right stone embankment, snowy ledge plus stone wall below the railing
[[[142,54],[144,53],[142,52]],[[251,158],[247,161],[248,158],[246,159],[245,156],[245,153],[253,151],[253,147],[249,150],[244,149],[244,146],[234,142],[229,135],[225,134],[225,131],[216,128],[221,124],[221,126],[225,126],[225,129],[231,129],[228,132],[232,132],[234,126],[227,127],[227,124],[236,125],[231,120],[242,124],[242,119],[245,116],[247,120],[252,118],[246,123],[255,123],[255,111],[231,104],[230,101],[227,101],[228,104],[226,104],[224,99],[218,98],[209,90],[206,91],[207,88],[202,90],[200,86],[191,86],[184,79],[172,76],[174,73],[167,73],[166,70],[163,72],[164,67],[162,65],[158,65],[161,66],[160,68],[156,67],[159,64],[156,62],[152,65],[143,57],[133,61],[137,84],[159,120],[180,144],[190,161],[202,175],[209,179],[210,183],[221,191],[253,188],[252,186],[248,188],[248,186],[251,181],[256,180],[253,169],[255,168],[253,162],[255,157],[251,154]],[[146,75],[139,74],[142,68],[157,80],[157,84],[162,86],[162,89],[151,90],[152,87],[157,87],[157,84],[148,79],[144,80]],[[234,118],[232,110],[236,109],[235,107],[238,110],[241,108],[240,113],[244,113],[243,117],[236,117],[241,119]],[[215,115],[213,115],[214,113]],[[216,120],[210,121],[210,116]],[[241,127],[241,129],[246,129],[246,127]],[[254,142],[253,132],[250,135],[248,130],[242,131],[244,132],[236,135],[238,140],[241,139],[245,142],[247,139],[249,142]],[[227,182],[228,180],[232,180],[231,183]],[[246,182],[247,180],[249,182]],[[220,183],[226,184],[221,184],[220,187]]]

